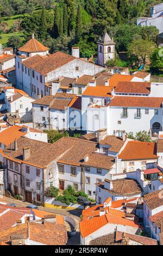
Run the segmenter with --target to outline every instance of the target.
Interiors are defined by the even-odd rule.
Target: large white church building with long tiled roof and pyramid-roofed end
[[[75,56],[75,57],[74,57]],[[18,49],[16,56],[16,84],[30,96],[37,99],[51,94],[51,82],[59,77],[78,78],[82,75],[95,75],[102,71],[101,66],[87,62],[63,52],[48,54],[48,48],[40,44],[34,36]]]

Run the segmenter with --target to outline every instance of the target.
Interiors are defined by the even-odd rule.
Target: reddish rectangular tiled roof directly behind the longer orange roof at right
[[[149,94],[151,83],[145,82],[118,82],[115,93],[139,93]]]

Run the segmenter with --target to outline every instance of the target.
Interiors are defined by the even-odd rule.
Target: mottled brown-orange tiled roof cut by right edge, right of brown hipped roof
[[[163,190],[157,190],[149,194],[145,194],[143,200],[147,204],[149,209],[153,210],[162,206],[163,204],[162,193],[163,193]]]

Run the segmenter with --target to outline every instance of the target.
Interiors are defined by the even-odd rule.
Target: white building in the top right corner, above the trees
[[[154,5],[151,8],[151,17],[140,17],[137,19],[138,26],[155,26],[159,32],[163,32],[163,3]]]

